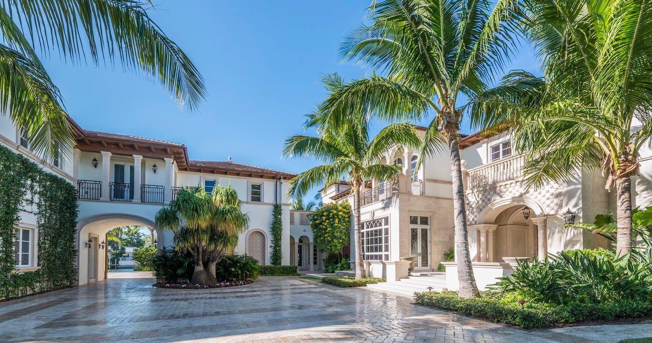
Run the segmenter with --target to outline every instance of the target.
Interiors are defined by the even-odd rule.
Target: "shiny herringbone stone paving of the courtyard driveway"
[[[218,290],[154,288],[149,273],[0,303],[0,342],[617,342],[652,325],[523,331],[404,295],[261,277]]]

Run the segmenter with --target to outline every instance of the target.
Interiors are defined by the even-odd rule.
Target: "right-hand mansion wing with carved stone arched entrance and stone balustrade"
[[[417,127],[420,131],[425,128]],[[512,150],[507,133],[465,136],[460,141],[464,165],[469,248],[481,288],[507,275],[512,266],[503,258],[542,258],[567,249],[606,247],[600,236],[579,228],[564,228],[568,209],[576,221],[592,223],[596,214],[615,212],[615,196],[604,189],[599,171],[584,172],[563,184],[526,189],[522,156]],[[368,273],[398,281],[415,271],[432,271],[445,250],[453,246],[451,169],[447,152],[426,158],[415,173],[416,152],[397,146],[381,161],[401,165],[404,172],[392,182],[373,180],[364,189],[361,215],[364,259]],[[640,156],[641,175],[632,182],[633,206],[652,206],[652,150]],[[321,191],[323,202],[348,200],[346,182]],[[526,210],[526,213],[524,213]],[[355,254],[351,251],[352,258]],[[447,266],[447,283],[456,289],[454,263]],[[353,264],[352,264],[353,265]]]

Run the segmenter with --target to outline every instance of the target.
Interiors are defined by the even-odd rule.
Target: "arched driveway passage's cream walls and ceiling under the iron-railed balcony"
[[[106,245],[104,249],[100,249],[99,243],[104,241],[104,235],[111,229],[128,225],[154,228],[158,240],[156,244],[158,249],[163,249],[168,243],[162,230],[156,227],[153,219],[128,213],[103,213],[85,217],[77,223],[77,249],[79,252],[77,267],[78,283],[80,285],[89,281],[104,280],[108,249]],[[89,239],[93,241],[90,248],[86,245]],[[171,241],[168,245],[171,245]]]

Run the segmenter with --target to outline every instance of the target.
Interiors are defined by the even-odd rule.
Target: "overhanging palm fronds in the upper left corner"
[[[37,51],[54,51],[74,63],[120,61],[125,69],[157,78],[190,110],[205,96],[197,68],[139,1],[3,1],[0,18],[0,105],[8,109],[3,115],[47,159],[70,156],[74,140],[59,89]]]

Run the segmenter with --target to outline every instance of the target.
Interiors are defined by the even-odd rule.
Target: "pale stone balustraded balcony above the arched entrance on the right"
[[[524,159],[522,156],[512,156],[488,165],[481,165],[467,171],[467,189],[489,187],[512,180],[520,180],[523,176]]]

